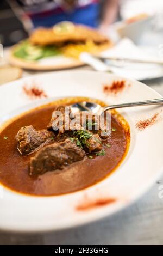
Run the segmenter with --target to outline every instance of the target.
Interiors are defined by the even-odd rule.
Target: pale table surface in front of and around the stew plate
[[[24,72],[23,76],[33,74]],[[143,82],[163,95],[163,78]],[[0,245],[162,245],[163,199],[158,196],[160,185],[163,185],[163,175],[136,203],[101,221],[40,235],[0,232]]]

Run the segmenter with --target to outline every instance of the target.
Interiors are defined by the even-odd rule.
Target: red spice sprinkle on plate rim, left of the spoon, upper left
[[[41,97],[47,97],[46,93],[40,89],[37,86],[33,86],[28,88],[26,85],[23,86],[23,91],[26,93],[26,95],[32,99],[34,98],[41,98]]]

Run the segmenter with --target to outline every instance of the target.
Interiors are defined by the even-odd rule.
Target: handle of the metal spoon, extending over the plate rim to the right
[[[143,105],[157,105],[163,103],[163,98],[162,99],[155,99],[155,100],[143,100],[143,101],[137,101],[137,102],[131,102],[131,103],[123,103],[123,104],[117,104],[117,105],[112,105],[105,107],[103,111],[107,111],[109,109],[114,109],[114,108],[122,108],[122,107],[136,107],[136,106],[143,106]]]

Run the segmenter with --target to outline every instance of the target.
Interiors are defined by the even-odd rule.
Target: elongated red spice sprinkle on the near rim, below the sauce
[[[80,204],[77,206],[78,211],[85,211],[85,210],[91,210],[92,208],[97,208],[101,206],[105,206],[107,204],[114,203],[116,201],[115,198],[103,198],[103,199],[97,199],[93,202],[85,202],[83,204]]]

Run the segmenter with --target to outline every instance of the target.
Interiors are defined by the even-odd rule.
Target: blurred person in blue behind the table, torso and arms
[[[40,26],[51,27],[61,21],[71,21],[102,32],[116,20],[118,0],[8,0],[11,8],[30,32]],[[99,13],[102,4],[101,21]]]

